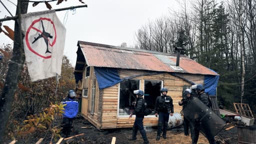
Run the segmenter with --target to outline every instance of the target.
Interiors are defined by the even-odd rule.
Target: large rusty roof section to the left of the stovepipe
[[[92,45],[82,45],[82,51],[90,66],[172,71],[168,65],[151,53],[139,51],[133,53],[123,49],[97,48]]]

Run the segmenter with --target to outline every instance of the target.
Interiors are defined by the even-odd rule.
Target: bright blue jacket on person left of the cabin
[[[64,106],[64,117],[73,118],[76,116],[78,112],[78,102],[75,101],[75,98],[71,99],[69,97],[66,97],[61,101],[61,103],[66,104],[66,106]]]

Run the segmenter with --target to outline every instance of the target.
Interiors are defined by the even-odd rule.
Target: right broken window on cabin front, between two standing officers
[[[162,87],[162,81],[160,80],[144,80],[144,99],[147,108],[154,109],[155,99],[161,95],[160,89]],[[151,114],[154,114],[152,111]]]

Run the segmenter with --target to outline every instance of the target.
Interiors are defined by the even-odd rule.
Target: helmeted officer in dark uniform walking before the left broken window
[[[148,143],[147,137],[146,137],[146,132],[144,130],[143,127],[143,118],[144,118],[144,109],[145,109],[145,105],[144,105],[144,98],[143,96],[143,91],[140,90],[139,93],[137,94],[138,97],[136,99],[136,103],[135,103],[135,107],[133,112],[130,114],[130,117],[132,114],[135,114],[135,121],[132,127],[132,138],[130,140],[136,140],[136,135],[137,135],[137,131],[139,129],[139,132],[144,140],[144,143]]]

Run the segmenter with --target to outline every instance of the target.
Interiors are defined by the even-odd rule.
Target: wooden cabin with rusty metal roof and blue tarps
[[[202,83],[215,95],[219,75],[185,55],[85,41],[77,46],[74,75],[82,83],[81,114],[98,129],[132,127],[135,116],[128,117],[136,89],[144,91],[147,106],[154,109],[155,98],[166,87],[174,112],[180,112],[182,91],[192,84]],[[143,124],[156,126],[157,120],[152,112]]]

